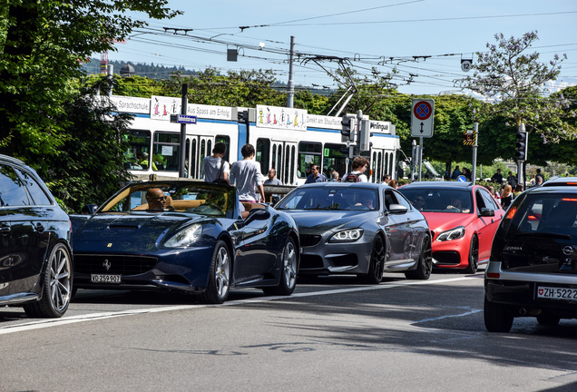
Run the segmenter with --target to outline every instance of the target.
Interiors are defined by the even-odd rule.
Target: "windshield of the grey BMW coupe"
[[[353,187],[308,187],[290,193],[278,210],[377,210],[377,190]]]

